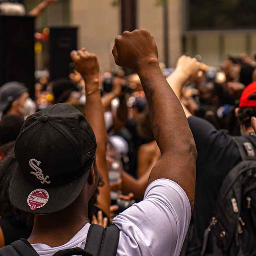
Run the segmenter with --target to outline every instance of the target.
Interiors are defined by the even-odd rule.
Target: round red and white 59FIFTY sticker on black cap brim
[[[49,194],[46,190],[36,189],[32,191],[27,199],[27,203],[31,210],[36,210],[46,205],[49,199]]]

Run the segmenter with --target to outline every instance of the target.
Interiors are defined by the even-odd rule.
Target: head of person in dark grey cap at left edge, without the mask
[[[25,103],[29,97],[25,85],[19,82],[8,82],[0,88],[0,111],[2,116],[12,114],[24,116]]]

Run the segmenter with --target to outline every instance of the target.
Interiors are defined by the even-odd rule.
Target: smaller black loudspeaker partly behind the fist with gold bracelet
[[[50,28],[50,80],[69,78],[70,53],[78,48],[78,27]]]

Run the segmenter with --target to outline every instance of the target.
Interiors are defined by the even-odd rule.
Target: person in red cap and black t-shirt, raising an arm
[[[167,81],[176,96],[181,99],[182,86],[174,83],[171,76],[167,78]],[[194,249],[201,252],[204,233],[214,216],[222,183],[229,172],[242,161],[242,158],[234,137],[228,131],[217,130],[206,120],[193,116],[185,106],[183,109],[198,152],[196,195],[192,218],[193,228],[191,229],[193,235],[191,238],[193,237]],[[252,122],[255,116],[256,82],[253,82],[242,92],[239,107],[236,108],[236,117],[241,130],[241,136],[238,138],[242,138],[244,143],[252,145],[251,152],[254,156],[256,155],[256,135]],[[245,154],[247,153],[245,152]]]

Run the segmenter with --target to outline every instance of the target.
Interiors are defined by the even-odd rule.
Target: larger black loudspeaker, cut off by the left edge
[[[0,15],[0,86],[25,84],[34,97],[34,17]]]

